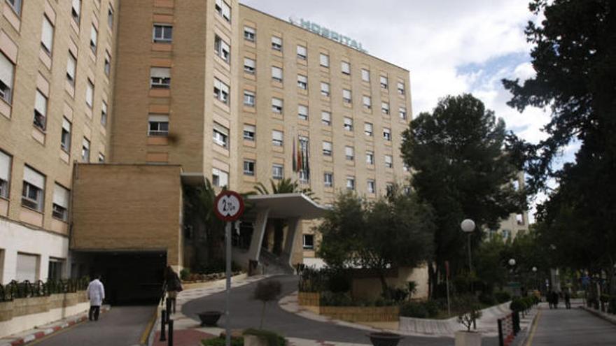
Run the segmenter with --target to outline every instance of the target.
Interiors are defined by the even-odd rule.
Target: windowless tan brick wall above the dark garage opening
[[[79,164],[71,250],[167,250],[167,262],[182,266],[180,173],[179,166]]]

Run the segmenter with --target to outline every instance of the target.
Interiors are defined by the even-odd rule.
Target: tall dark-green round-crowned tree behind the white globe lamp
[[[444,261],[451,261],[453,271],[465,263],[463,219],[477,224],[472,234],[477,245],[482,229],[496,229],[500,219],[526,209],[524,192],[512,185],[523,157],[517,138],[505,132],[505,122],[470,94],[440,100],[432,114],[421,113],[402,136],[402,157],[414,171],[411,185],[435,210],[436,266],[429,271],[433,294]]]

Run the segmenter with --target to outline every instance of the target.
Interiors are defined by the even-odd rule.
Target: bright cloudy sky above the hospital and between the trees
[[[537,143],[549,110],[507,106],[501,79],[533,77],[524,27],[537,20],[526,0],[240,0],[283,20],[300,17],[361,42],[370,55],[410,71],[412,113],[443,96],[472,93],[507,129]],[[571,145],[561,161],[577,150]],[[534,203],[545,199],[538,196]],[[533,203],[533,205],[534,205]],[[532,218],[531,210],[531,221]]]

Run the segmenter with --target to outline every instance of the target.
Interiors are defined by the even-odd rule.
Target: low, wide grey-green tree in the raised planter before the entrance
[[[384,295],[388,268],[416,267],[432,254],[432,212],[398,186],[374,202],[351,192],[337,196],[317,230],[323,235],[319,256],[328,265],[373,269]]]

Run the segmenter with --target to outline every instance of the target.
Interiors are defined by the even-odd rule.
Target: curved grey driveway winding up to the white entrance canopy
[[[278,276],[275,278],[282,283],[283,295],[290,294],[297,290],[297,277]],[[256,283],[247,284],[246,286],[232,290],[232,304],[230,307],[232,329],[259,326],[262,303],[252,299],[255,285]],[[183,305],[182,312],[184,315],[198,321],[199,317],[197,317],[197,312],[224,309],[225,294],[222,292],[189,301]],[[224,317],[221,317],[221,321],[218,325],[225,325]],[[267,304],[263,328],[276,331],[277,333],[291,338],[337,341],[342,343],[370,343],[370,340],[365,336],[366,331],[305,319],[304,317],[282,310],[276,303]],[[498,345],[498,341],[496,338],[486,338],[482,344],[484,346]],[[454,345],[454,339],[407,336],[400,342],[400,345]]]

